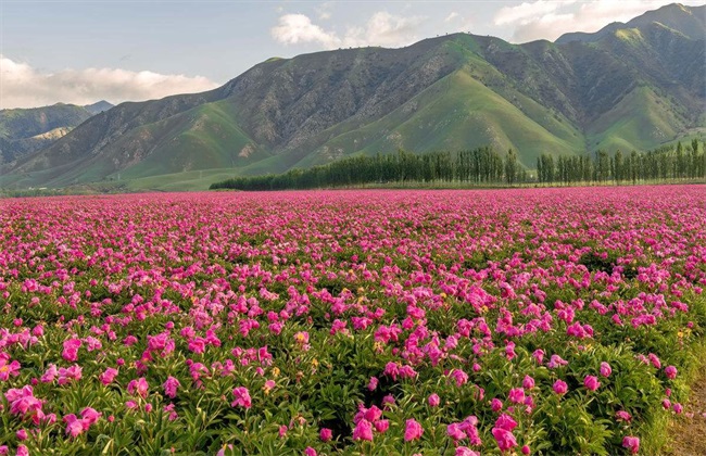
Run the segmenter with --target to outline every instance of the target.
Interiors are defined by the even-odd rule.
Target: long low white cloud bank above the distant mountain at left
[[[217,85],[203,76],[163,75],[119,68],[62,69],[42,73],[0,54],[0,109],[35,107],[59,101],[90,104],[164,98],[210,90]]]

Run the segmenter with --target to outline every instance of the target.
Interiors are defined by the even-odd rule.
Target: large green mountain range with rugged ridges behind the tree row
[[[705,15],[671,4],[556,42],[454,34],[269,59],[209,92],[98,114],[7,167],[0,185],[175,189],[184,176],[184,188],[205,188],[204,175],[399,148],[513,148],[528,167],[541,153],[652,149],[706,130]]]

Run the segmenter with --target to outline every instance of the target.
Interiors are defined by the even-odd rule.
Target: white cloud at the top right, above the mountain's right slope
[[[568,31],[597,31],[612,22],[628,22],[673,0],[535,0],[502,8],[494,17],[497,26],[513,27],[512,40],[554,40]],[[698,4],[703,0],[682,0]],[[577,4],[580,5],[577,8]]]

